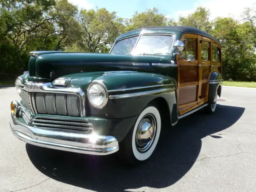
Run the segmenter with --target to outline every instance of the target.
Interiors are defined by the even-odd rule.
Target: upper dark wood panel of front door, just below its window
[[[179,66],[180,83],[198,81],[198,66]]]

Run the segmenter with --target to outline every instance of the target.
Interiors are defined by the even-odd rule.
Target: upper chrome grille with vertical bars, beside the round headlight
[[[33,114],[81,116],[80,99],[75,94],[21,92],[22,101]]]

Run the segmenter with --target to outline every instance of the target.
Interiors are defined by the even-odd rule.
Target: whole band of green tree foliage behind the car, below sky
[[[177,21],[157,8],[119,18],[105,8],[78,10],[68,0],[0,0],[0,78],[15,78],[27,70],[28,52],[62,50],[108,52],[114,39],[146,26],[186,25],[206,30],[222,44],[227,79],[256,80],[256,10],[247,8],[242,22],[215,18],[198,7]]]

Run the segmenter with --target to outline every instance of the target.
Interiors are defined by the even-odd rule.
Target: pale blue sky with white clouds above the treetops
[[[68,2],[84,9],[106,8],[117,12],[118,17],[131,18],[135,11],[143,12],[147,8],[158,8],[161,14],[176,21],[179,16],[187,16],[196,7],[203,6],[211,12],[210,20],[217,16],[231,16],[239,19],[246,7],[256,8],[256,0],[68,0]]]

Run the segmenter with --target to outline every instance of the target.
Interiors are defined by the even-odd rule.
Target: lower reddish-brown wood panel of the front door
[[[196,98],[197,88],[198,88],[197,85],[180,87],[178,104],[181,105],[181,104],[197,101],[197,98]]]

